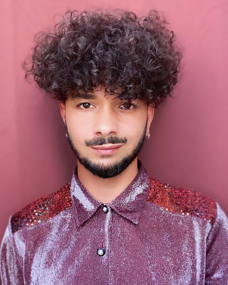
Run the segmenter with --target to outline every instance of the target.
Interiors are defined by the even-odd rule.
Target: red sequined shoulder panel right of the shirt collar
[[[217,210],[216,202],[203,194],[176,188],[154,178],[150,178],[147,201],[159,205],[166,211],[207,219],[211,224]]]

